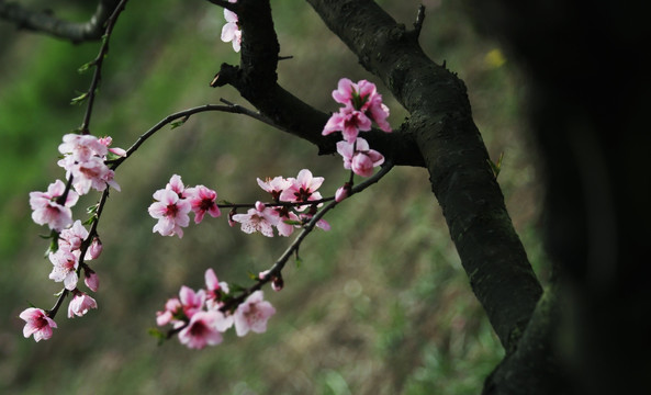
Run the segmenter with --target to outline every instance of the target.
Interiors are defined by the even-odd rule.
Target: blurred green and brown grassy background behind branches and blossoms
[[[41,9],[46,1],[24,1]],[[81,3],[81,4],[80,4]],[[417,1],[380,1],[411,27]],[[541,190],[526,144],[526,81],[498,43],[479,36],[456,1],[425,1],[426,53],[467,82],[475,121],[493,158],[504,151],[500,183],[537,272],[548,276],[537,232]],[[52,5],[49,5],[52,7]],[[303,2],[272,1],[282,86],[324,111],[341,77],[378,83],[397,127],[406,115]],[[57,13],[82,21],[92,2],[60,1]],[[59,10],[60,8],[60,10]],[[166,115],[225,98],[209,82],[237,54],[220,41],[222,10],[207,2],[132,1],[117,22],[91,121],[94,135],[131,144]],[[341,159],[318,157],[310,144],[244,116],[205,113],[160,131],[117,171],[99,233],[99,308],[68,319],[47,341],[22,337],[20,312],[49,308],[60,290],[47,279],[46,228],[30,218],[29,192],[63,178],[61,135],[81,123],[72,106],[99,43],[71,45],[16,32],[0,22],[0,393],[2,394],[478,394],[503,351],[451,244],[424,169],[396,168],[367,193],[341,204],[289,264],[285,289],[266,290],[277,314],[262,335],[225,336],[222,345],[188,350],[147,334],[155,313],[181,284],[203,285],[206,268],[245,284],[290,242],[247,236],[224,217],[191,225],[183,239],[151,233],[151,193],[173,173],[203,183],[220,199],[265,199],[256,177],[324,176],[332,194],[347,178]],[[76,217],[93,204],[91,193]]]

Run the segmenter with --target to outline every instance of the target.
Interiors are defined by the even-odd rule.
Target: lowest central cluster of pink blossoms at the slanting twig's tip
[[[260,273],[262,274],[262,273]],[[276,309],[263,300],[262,291],[251,293],[234,312],[222,312],[228,295],[228,284],[220,282],[212,269],[205,272],[205,289],[194,291],[181,286],[179,297],[167,301],[165,309],[157,313],[158,326],[172,325],[179,341],[191,349],[202,349],[222,342],[223,332],[235,327],[237,336],[249,331],[263,332],[267,320]]]

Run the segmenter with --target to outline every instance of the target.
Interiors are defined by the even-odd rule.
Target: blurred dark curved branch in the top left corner
[[[19,29],[49,34],[72,43],[100,40],[104,23],[120,0],[99,0],[98,8],[88,22],[69,22],[56,18],[50,11],[27,10],[16,2],[0,0],[0,19],[14,22]]]

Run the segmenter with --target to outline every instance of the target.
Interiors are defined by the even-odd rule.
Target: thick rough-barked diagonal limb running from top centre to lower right
[[[372,1],[308,0],[411,113],[414,136],[472,289],[507,352],[542,289],[506,212],[463,82]]]

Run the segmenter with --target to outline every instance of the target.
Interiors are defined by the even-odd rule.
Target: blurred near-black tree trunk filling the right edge
[[[651,394],[651,78],[641,58],[651,35],[642,5],[472,3],[478,25],[504,40],[534,82],[558,283],[521,356],[494,372],[486,393]]]

